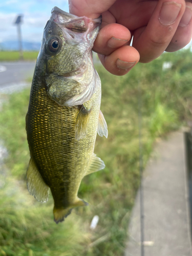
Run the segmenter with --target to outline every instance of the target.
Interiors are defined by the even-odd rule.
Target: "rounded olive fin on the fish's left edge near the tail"
[[[42,179],[35,162],[30,159],[29,167],[27,170],[27,188],[30,195],[41,203],[45,203],[49,199],[49,187]]]

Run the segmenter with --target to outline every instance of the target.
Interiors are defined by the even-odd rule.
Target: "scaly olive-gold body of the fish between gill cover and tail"
[[[31,94],[28,111],[28,122],[30,122],[32,131],[32,139],[28,139],[31,155],[35,159],[45,183],[51,188],[55,205],[62,207],[63,195],[60,187],[65,187],[70,193],[68,186],[70,178],[72,178],[71,189],[73,190],[75,187],[78,191],[79,186],[74,184],[76,182],[73,179],[74,173],[75,176],[83,178],[89,165],[87,159],[90,159],[94,151],[97,133],[96,121],[100,106],[100,97],[98,97],[100,88],[90,100],[94,104],[90,116],[91,125],[88,126],[89,135],[79,141],[74,138],[75,123],[79,111],[73,107],[59,106],[48,97],[45,88],[35,88],[37,93],[33,91]],[[95,98],[98,102],[95,102]],[[97,112],[94,111],[94,106],[97,108]],[[36,113],[38,113],[37,116]],[[62,144],[63,141],[65,141],[65,146]],[[62,166],[65,166],[65,169]],[[61,180],[63,181],[62,185]],[[76,194],[74,195],[76,196]],[[60,195],[59,198],[58,195]]]

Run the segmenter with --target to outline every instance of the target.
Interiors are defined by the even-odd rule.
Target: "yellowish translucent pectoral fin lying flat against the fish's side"
[[[90,110],[81,105],[75,124],[75,139],[80,140],[88,133]]]

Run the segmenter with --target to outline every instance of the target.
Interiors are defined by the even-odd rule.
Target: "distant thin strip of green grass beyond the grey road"
[[[24,51],[24,60],[36,60],[38,56],[38,52]],[[19,60],[19,52],[18,51],[0,51],[0,61],[11,61],[11,60]]]

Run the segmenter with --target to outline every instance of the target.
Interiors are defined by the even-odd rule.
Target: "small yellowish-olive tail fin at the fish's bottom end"
[[[77,198],[77,200],[67,208],[57,209],[54,206],[54,209],[53,209],[54,221],[58,224],[59,222],[64,221],[64,219],[67,218],[68,215],[71,214],[71,211],[73,208],[78,207],[78,206],[86,206],[86,205],[89,205],[89,204],[86,203],[85,201]]]

